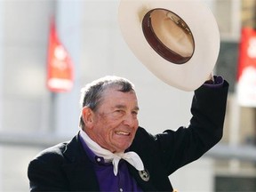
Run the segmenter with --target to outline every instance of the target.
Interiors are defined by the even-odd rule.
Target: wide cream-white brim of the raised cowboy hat
[[[174,12],[193,34],[192,57],[178,65],[164,59],[148,44],[141,22],[154,9]],[[118,22],[124,41],[134,55],[164,83],[183,91],[194,91],[212,73],[220,51],[220,32],[210,9],[197,0],[121,0]]]

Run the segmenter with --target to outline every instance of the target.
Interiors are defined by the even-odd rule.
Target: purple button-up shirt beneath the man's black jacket
[[[137,185],[136,180],[132,178],[127,164],[123,159],[121,159],[118,164],[118,173],[115,176],[113,164],[105,163],[103,157],[96,156],[92,150],[88,148],[81,136],[80,140],[87,156],[89,156],[92,161],[100,185],[100,191],[142,191]]]

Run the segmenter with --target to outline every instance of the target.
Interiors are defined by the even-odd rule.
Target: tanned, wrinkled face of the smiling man
[[[92,112],[92,126],[87,133],[102,148],[123,152],[131,146],[138,129],[138,111],[135,92],[109,89],[104,92],[100,108]]]

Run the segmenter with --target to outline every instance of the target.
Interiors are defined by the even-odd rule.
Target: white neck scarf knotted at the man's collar
[[[137,153],[130,151],[126,153],[113,154],[111,151],[101,148],[100,145],[94,142],[83,130],[81,130],[80,135],[88,148],[90,148],[96,156],[102,156],[105,160],[112,162],[114,168],[113,172],[115,175],[117,175],[118,172],[118,163],[120,159],[124,159],[129,164],[132,164],[132,166],[138,171],[144,170],[143,162]]]

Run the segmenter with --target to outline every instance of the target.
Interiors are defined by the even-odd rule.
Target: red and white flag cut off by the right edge
[[[238,102],[256,107],[256,30],[243,28],[237,70]]]

